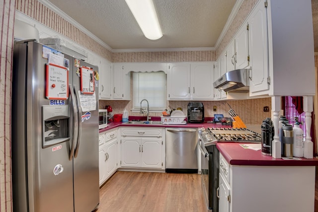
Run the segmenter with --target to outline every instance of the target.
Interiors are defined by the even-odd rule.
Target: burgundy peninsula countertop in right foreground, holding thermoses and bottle
[[[261,150],[246,149],[234,142],[218,142],[217,148],[231,165],[250,166],[318,166],[318,159],[284,160],[263,155]]]

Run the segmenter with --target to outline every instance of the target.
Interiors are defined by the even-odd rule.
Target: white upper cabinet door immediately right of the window
[[[167,88],[168,99],[190,99],[190,64],[169,64]]]

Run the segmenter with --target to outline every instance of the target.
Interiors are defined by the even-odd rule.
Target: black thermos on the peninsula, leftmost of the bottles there
[[[272,141],[274,139],[274,126],[270,118],[263,120],[261,125],[261,152],[264,155],[272,155]]]

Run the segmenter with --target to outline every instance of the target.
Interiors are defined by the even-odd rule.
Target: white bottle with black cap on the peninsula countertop
[[[293,155],[295,157],[304,156],[304,131],[299,127],[298,118],[295,117],[295,124],[293,127],[294,131],[294,145],[293,145]]]

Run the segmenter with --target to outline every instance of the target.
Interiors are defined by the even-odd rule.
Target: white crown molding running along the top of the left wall
[[[100,40],[98,37],[96,37],[93,33],[91,33],[90,31],[88,31],[85,27],[83,27],[82,25],[79,24],[79,22],[77,22],[76,20],[74,20],[73,18],[71,18],[68,14],[66,14],[65,12],[63,12],[61,9],[59,9],[57,6],[55,6],[54,4],[52,4],[50,1],[48,0],[38,0],[39,2],[41,2],[42,4],[44,4],[45,6],[47,6],[49,9],[51,9],[52,11],[54,11],[55,13],[57,13],[58,15],[60,15],[62,18],[64,18],[65,20],[69,21],[72,25],[76,26],[77,28],[79,28],[79,30],[81,30],[82,32],[84,32],[85,34],[87,34],[89,37],[91,37],[92,39],[94,39],[97,43],[99,43],[100,45],[102,45],[103,47],[105,47],[107,50],[113,52],[113,49],[110,48],[110,46],[108,46],[106,43],[104,43],[102,40]]]

